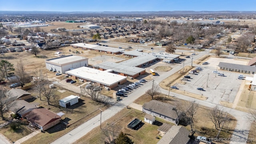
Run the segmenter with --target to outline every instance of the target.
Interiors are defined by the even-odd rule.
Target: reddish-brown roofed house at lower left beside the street
[[[61,120],[61,116],[58,116],[46,108],[33,109],[26,115],[26,118],[33,124],[33,126],[36,126],[43,131],[60,123]]]

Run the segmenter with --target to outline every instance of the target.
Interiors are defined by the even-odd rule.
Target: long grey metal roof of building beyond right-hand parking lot
[[[218,67],[220,68],[230,68],[234,70],[243,70],[243,71],[248,71],[248,72],[256,72],[256,66],[246,66],[242,64],[231,64],[231,63],[226,63],[226,62],[220,62]]]

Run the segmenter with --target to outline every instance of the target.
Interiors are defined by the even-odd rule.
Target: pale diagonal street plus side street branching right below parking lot
[[[196,59],[200,58],[203,54],[208,54],[208,52],[201,52],[200,54],[194,56],[193,60],[196,60]],[[192,59],[188,59],[187,62],[185,63],[185,66],[191,65],[191,60]],[[162,80],[164,80],[168,76],[178,72],[178,70],[180,70],[182,68],[182,66],[183,65],[180,64],[180,65],[172,68],[172,70],[166,72],[165,74],[154,77],[154,80],[155,80],[154,82],[156,84],[159,84]],[[117,114],[118,112],[120,112],[120,110],[122,110],[123,108],[126,108],[126,106],[132,104],[132,102],[134,100],[136,100],[137,98],[142,96],[145,93],[146,90],[151,88],[151,86],[152,86],[152,81],[144,83],[144,85],[141,86],[141,88],[138,88],[136,90],[136,92],[132,92],[131,94],[128,95],[128,97],[123,98],[123,100],[121,102],[118,102],[114,106],[112,106],[111,108],[103,111],[102,112],[102,123],[104,121],[106,121],[108,118],[110,118],[110,117],[114,116],[115,114]],[[143,90],[142,90],[142,88],[143,88]],[[169,91],[164,90],[164,89],[161,88],[161,92],[163,94],[168,94]],[[219,103],[206,102],[206,101],[203,101],[203,100],[198,100],[198,99],[191,98],[191,97],[188,97],[188,96],[184,96],[184,95],[181,95],[181,94],[176,94],[174,92],[170,92],[170,96],[175,96],[175,97],[180,98],[182,100],[194,101],[194,102],[196,102],[200,105],[211,107],[211,108],[215,107],[216,105],[218,105],[220,107],[223,107],[226,112],[229,112],[230,114],[232,114],[237,119],[237,125],[236,125],[236,128],[234,130],[234,134],[232,135],[232,138],[237,138],[237,137],[247,138],[248,137],[248,133],[249,133],[249,130],[250,130],[250,122],[246,121],[248,113],[241,112],[239,110],[234,110],[234,109],[231,109],[231,108],[226,108],[224,106],[221,106]],[[76,140],[82,138],[82,136],[86,135],[88,132],[90,132],[91,130],[93,130],[97,126],[100,126],[100,114],[95,116],[94,118],[88,120],[84,124],[78,126],[74,130],[68,132],[64,136],[56,139],[51,144],[71,144],[71,143],[74,143],[74,142],[76,142]],[[230,144],[238,144],[238,143],[239,144],[246,144],[246,142],[230,142]]]

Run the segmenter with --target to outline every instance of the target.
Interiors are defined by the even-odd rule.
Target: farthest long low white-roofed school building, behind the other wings
[[[104,52],[106,54],[120,54],[122,51],[124,51],[123,48],[113,48],[110,46],[98,46],[94,44],[84,44],[84,43],[70,44],[70,46],[72,46],[72,48],[82,48],[84,50]]]

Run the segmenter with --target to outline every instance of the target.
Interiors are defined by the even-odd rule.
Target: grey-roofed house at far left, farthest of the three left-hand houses
[[[20,88],[8,90],[7,95],[8,98],[12,98],[12,100],[26,100],[32,97],[29,92],[26,92]]]

